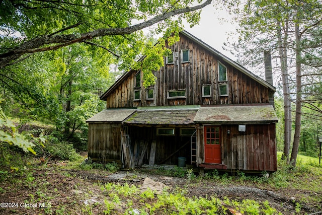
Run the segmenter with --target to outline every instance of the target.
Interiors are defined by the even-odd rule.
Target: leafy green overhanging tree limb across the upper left
[[[4,59],[0,67],[10,65],[12,60],[18,62],[18,58],[26,53],[81,42],[100,47],[121,62],[132,64],[134,57],[139,55],[137,50],[140,51],[142,46],[140,30],[156,24],[155,33],[169,33],[182,26],[184,20],[193,26],[200,19],[197,10],[209,5],[211,0],[204,3],[198,1],[200,5],[194,3],[191,0],[113,3],[105,0],[95,3],[91,0],[70,0],[55,4],[2,1],[4,13],[0,15],[0,30],[8,33],[0,40],[0,44],[6,47],[0,52]],[[26,40],[21,40],[21,37]],[[19,47],[15,54],[8,51],[13,47]]]

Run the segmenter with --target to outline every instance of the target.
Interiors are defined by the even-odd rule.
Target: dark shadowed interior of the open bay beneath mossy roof
[[[147,141],[147,152],[146,156],[143,160],[143,164],[149,163],[151,143],[153,140],[156,140],[156,150],[155,150],[155,164],[159,164],[176,150],[178,150],[182,145],[184,145],[188,140],[190,140],[189,136],[180,136],[180,128],[176,128],[175,136],[157,136],[155,127],[135,127],[129,126],[128,129],[130,138],[131,138],[131,146],[132,150],[134,150],[135,142]],[[178,153],[168,159],[163,164],[178,164],[178,157],[186,157],[187,163],[190,163],[191,151],[190,144],[186,145],[183,149],[181,149]],[[142,149],[139,149],[141,152]],[[139,153],[140,154],[140,153]]]

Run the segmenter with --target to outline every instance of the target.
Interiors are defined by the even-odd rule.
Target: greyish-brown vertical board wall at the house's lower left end
[[[121,160],[121,127],[112,123],[89,123],[88,155],[100,160]]]

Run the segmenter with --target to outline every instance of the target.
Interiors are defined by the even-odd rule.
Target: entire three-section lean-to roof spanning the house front
[[[186,105],[138,107],[137,109],[106,109],[89,118],[87,123],[127,125],[192,125],[202,124],[267,124],[278,121],[272,105]]]

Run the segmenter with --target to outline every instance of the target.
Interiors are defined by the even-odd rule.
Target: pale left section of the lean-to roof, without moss
[[[92,116],[87,123],[106,123],[106,122],[122,122],[132,113],[136,111],[136,108],[133,109],[106,109],[98,114]]]

